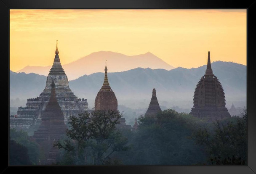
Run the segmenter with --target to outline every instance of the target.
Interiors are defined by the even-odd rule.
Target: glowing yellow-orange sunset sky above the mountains
[[[62,65],[101,50],[246,65],[246,10],[10,10],[10,69],[52,65],[56,39]]]

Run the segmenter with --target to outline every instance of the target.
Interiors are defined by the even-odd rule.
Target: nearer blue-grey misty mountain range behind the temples
[[[246,102],[246,66],[233,62],[216,61],[211,63],[213,74],[220,80],[226,101]],[[109,84],[118,100],[118,104],[128,107],[147,107],[152,89],[157,92],[160,105],[189,103],[192,106],[193,94],[197,82],[205,74],[206,65],[172,70],[136,68],[123,72],[108,73]],[[79,98],[87,98],[90,108],[104,81],[104,73],[83,75],[69,81],[69,87]],[[15,73],[10,71],[10,99],[35,98],[45,88],[46,76],[34,73]],[[139,101],[136,103],[135,101]],[[10,103],[11,104],[11,103]],[[166,106],[168,105],[166,104]],[[230,105],[231,105],[230,104]],[[241,105],[243,106],[243,105]]]

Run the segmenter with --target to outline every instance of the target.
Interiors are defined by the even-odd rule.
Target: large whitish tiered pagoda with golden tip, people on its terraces
[[[10,118],[10,127],[27,129],[35,124],[40,124],[42,113],[51,96],[52,80],[55,84],[56,98],[64,114],[65,123],[67,123],[69,116],[78,115],[88,109],[87,100],[77,98],[69,88],[67,75],[59,59],[57,40],[53,66],[47,76],[45,89],[39,97],[27,99],[26,107],[19,107],[17,118]]]

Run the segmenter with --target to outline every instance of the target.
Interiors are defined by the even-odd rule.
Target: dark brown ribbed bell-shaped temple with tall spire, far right
[[[198,118],[208,121],[230,117],[227,111],[224,90],[219,79],[211,69],[210,51],[208,51],[207,68],[205,75],[197,83],[194,92],[193,108],[191,113]]]

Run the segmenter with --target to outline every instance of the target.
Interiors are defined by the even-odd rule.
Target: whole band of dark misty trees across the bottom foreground
[[[66,137],[55,143],[58,164],[223,165],[246,164],[247,113],[208,122],[173,109],[140,116],[139,128],[120,127],[117,111],[71,116]],[[10,129],[11,163],[36,164],[37,143]],[[18,150],[20,149],[20,151]],[[18,151],[19,152],[18,152]],[[22,161],[18,156],[24,156]],[[41,158],[42,159],[42,158]]]

